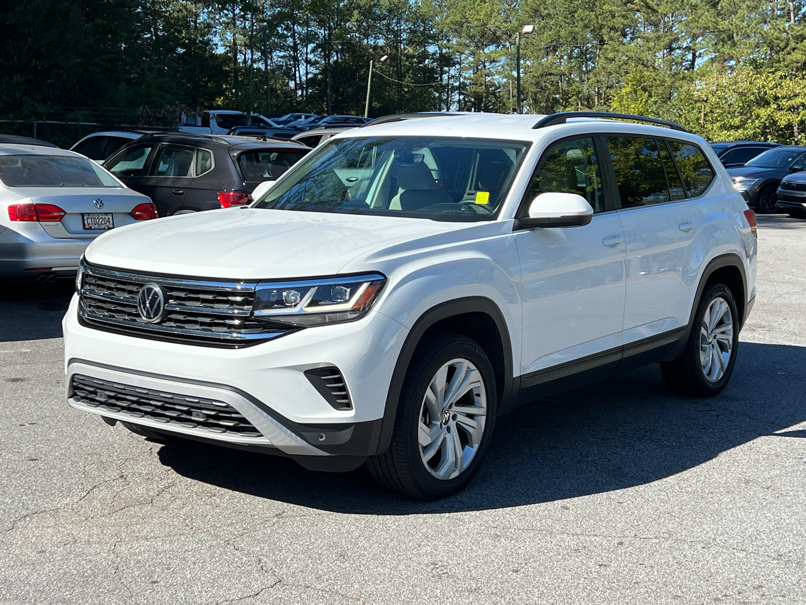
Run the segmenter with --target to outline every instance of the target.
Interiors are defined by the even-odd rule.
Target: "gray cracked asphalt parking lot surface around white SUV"
[[[0,603],[804,603],[806,221],[759,246],[723,394],[650,366],[521,407],[437,503],[72,410],[72,284],[3,285]]]

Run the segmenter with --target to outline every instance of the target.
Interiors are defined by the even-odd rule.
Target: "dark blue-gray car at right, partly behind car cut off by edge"
[[[757,212],[775,212],[775,191],[787,174],[806,169],[806,147],[781,145],[755,156],[742,168],[728,169],[733,185]]]

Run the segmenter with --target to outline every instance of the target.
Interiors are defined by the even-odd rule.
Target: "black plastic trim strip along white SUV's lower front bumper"
[[[209,382],[204,380],[193,380],[191,378],[181,378],[178,376],[167,376],[156,372],[146,372],[139,369],[123,368],[118,365],[110,365],[99,363],[98,361],[89,361],[78,357],[69,359],[67,365],[73,363],[81,363],[85,365],[94,365],[98,368],[111,369],[117,372],[135,374],[137,376],[144,376],[147,378],[158,378],[160,380],[168,380],[171,382],[182,382],[189,385],[198,386],[211,386],[216,389],[228,390],[246,399],[249,403],[263,411],[264,414],[271,416],[279,424],[282,424],[289,431],[293,432],[296,436],[300,437],[305,442],[313,445],[323,452],[338,454],[344,456],[367,456],[369,453],[374,453],[377,449],[378,437],[380,436],[381,419],[367,420],[365,422],[347,422],[347,423],[332,423],[332,424],[299,424],[291,419],[286,418],[280,412],[266,403],[260,401],[254,395],[248,394],[245,390],[241,390],[236,386],[221,384],[220,382]],[[136,424],[137,419],[132,419]],[[324,440],[319,440],[320,435],[325,435]],[[330,444],[327,444],[329,442]]]

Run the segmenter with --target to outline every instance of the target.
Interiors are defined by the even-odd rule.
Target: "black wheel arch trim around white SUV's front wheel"
[[[378,443],[377,453],[388,451],[389,446],[392,444],[395,417],[397,416],[397,400],[400,396],[406,371],[409,369],[409,363],[422,337],[425,336],[428,329],[438,321],[466,313],[483,313],[484,315],[488,315],[493,323],[495,323],[498,336],[501,339],[504,366],[504,384],[501,389],[501,398],[498,402],[499,414],[501,414],[502,409],[509,407],[509,399],[512,398],[513,390],[515,390],[513,388],[513,350],[512,340],[509,338],[509,328],[507,328],[501,309],[496,303],[492,302],[492,299],[483,296],[456,298],[446,303],[440,303],[431,307],[418,317],[411,330],[409,330],[401,352],[397,356],[397,364],[395,364],[392,380],[389,382],[389,390],[386,395],[386,406],[384,407],[383,424],[381,424],[380,428],[380,441]]]

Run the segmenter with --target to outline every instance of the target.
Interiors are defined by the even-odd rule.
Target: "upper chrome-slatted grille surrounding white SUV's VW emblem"
[[[143,286],[163,290],[165,313],[148,323],[137,309]],[[255,283],[205,282],[84,265],[79,315],[93,328],[157,340],[243,347],[281,336],[287,328],[251,318]]]

